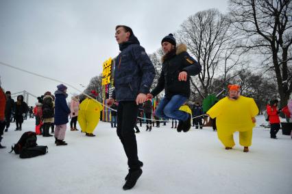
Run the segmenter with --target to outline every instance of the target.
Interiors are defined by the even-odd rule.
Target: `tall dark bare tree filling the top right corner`
[[[263,56],[265,70],[276,75],[280,105],[292,91],[290,0],[230,0],[232,24],[243,35],[241,47]]]

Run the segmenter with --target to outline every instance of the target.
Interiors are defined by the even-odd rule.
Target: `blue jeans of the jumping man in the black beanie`
[[[163,97],[156,109],[156,116],[162,119],[176,119],[186,121],[188,113],[179,110],[186,103],[187,98],[182,95],[174,95],[171,98]]]

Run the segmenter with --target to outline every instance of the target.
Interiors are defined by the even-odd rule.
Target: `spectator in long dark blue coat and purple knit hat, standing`
[[[64,84],[57,86],[58,90],[55,92],[55,138],[56,145],[67,145],[64,141],[66,134],[66,123],[69,122],[68,117],[70,114],[70,109],[66,103],[67,87]]]

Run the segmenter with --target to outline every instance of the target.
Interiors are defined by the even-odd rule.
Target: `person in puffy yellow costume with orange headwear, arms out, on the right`
[[[232,90],[239,92],[239,86],[237,85],[229,85],[228,88],[230,89],[229,92]],[[212,119],[217,118],[218,138],[226,149],[232,149],[235,145],[233,133],[238,131],[239,143],[245,147],[245,152],[248,151],[248,147],[252,145],[254,117],[258,114],[258,107],[254,99],[238,94],[236,97],[225,97],[212,106],[207,114]]]

